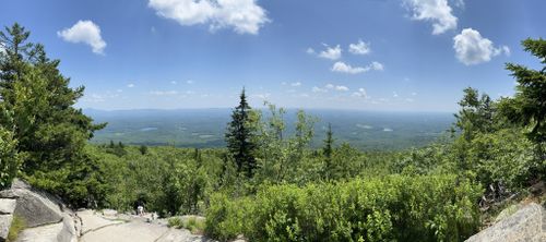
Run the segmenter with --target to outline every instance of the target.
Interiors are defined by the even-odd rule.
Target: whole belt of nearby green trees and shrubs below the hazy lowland
[[[59,60],[19,24],[0,34],[0,186],[14,178],[73,208],[202,215],[202,232],[227,241],[463,241],[511,201],[533,197],[546,177],[546,40],[522,48],[539,63],[506,69],[515,95],[461,90],[450,132],[406,150],[359,150],[328,129],[312,148],[317,119],[260,111],[245,89],[234,104],[225,148],[91,144],[94,123],[74,108]],[[39,38],[39,36],[38,36]],[[502,66],[499,66],[501,70]]]

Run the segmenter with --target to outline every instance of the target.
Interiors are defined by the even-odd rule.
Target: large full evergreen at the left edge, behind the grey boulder
[[[58,65],[39,44],[27,41],[29,32],[19,24],[0,32],[0,124],[13,120],[16,149],[23,154],[22,170],[35,185],[61,195],[69,203],[92,205],[100,198],[97,165],[84,148],[93,132],[105,124],[72,106],[83,87],[69,87]]]

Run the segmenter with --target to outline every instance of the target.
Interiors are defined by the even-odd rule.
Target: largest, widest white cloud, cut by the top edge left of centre
[[[256,0],[150,0],[147,5],[180,25],[207,24],[211,31],[232,27],[238,34],[256,35],[270,22]]]

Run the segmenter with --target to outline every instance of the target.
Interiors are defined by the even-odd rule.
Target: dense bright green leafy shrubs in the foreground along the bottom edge
[[[217,195],[205,231],[219,240],[462,241],[477,230],[480,194],[455,176],[273,185],[254,197]]]

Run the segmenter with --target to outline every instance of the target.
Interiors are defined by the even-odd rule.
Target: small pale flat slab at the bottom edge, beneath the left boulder
[[[57,242],[62,241],[59,235],[62,233],[64,225],[62,222],[40,226],[23,230],[16,242]]]

